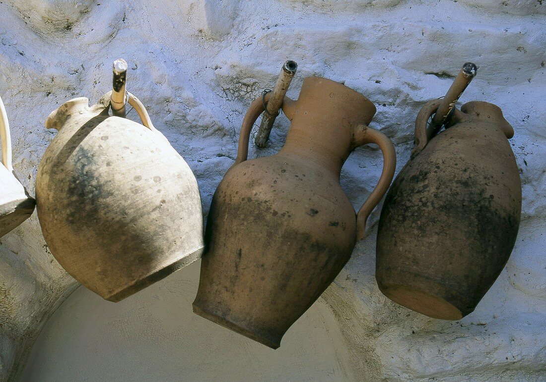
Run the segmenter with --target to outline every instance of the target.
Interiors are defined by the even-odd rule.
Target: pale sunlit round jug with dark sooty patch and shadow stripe
[[[110,92],[111,93],[111,92]],[[203,251],[197,181],[138,99],[144,123],[110,117],[110,93],[66,102],[46,120],[58,134],[38,167],[38,219],[63,268],[120,301]]]

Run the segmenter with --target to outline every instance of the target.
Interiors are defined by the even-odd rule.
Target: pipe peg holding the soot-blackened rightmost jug
[[[465,91],[468,84],[470,84],[472,79],[476,76],[477,71],[478,66],[476,66],[476,64],[467,62],[462,65],[461,71],[455,77],[455,80],[449,87],[446,96],[444,96],[442,99],[440,106],[438,106],[438,110],[432,117],[432,122],[427,128],[427,136],[429,138],[436,135],[436,133],[442,128],[442,125],[444,125],[451,117],[455,104],[459,100],[462,92]]]

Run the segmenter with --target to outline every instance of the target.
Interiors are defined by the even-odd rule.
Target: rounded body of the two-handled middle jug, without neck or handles
[[[272,348],[353,250],[352,204],[331,174],[280,154],[218,186],[194,311]]]

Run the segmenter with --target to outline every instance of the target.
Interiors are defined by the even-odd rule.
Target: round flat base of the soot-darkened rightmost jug
[[[376,272],[376,280],[390,300],[431,318],[455,321],[473,311],[465,296],[425,276],[387,269]]]

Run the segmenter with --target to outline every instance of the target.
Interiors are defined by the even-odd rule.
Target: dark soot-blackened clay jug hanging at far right
[[[432,318],[471,313],[505,266],[518,234],[521,183],[507,138],[514,130],[488,102],[454,110],[427,140],[440,101],[416,120],[416,148],[390,187],[377,233],[376,280],[398,304]]]

